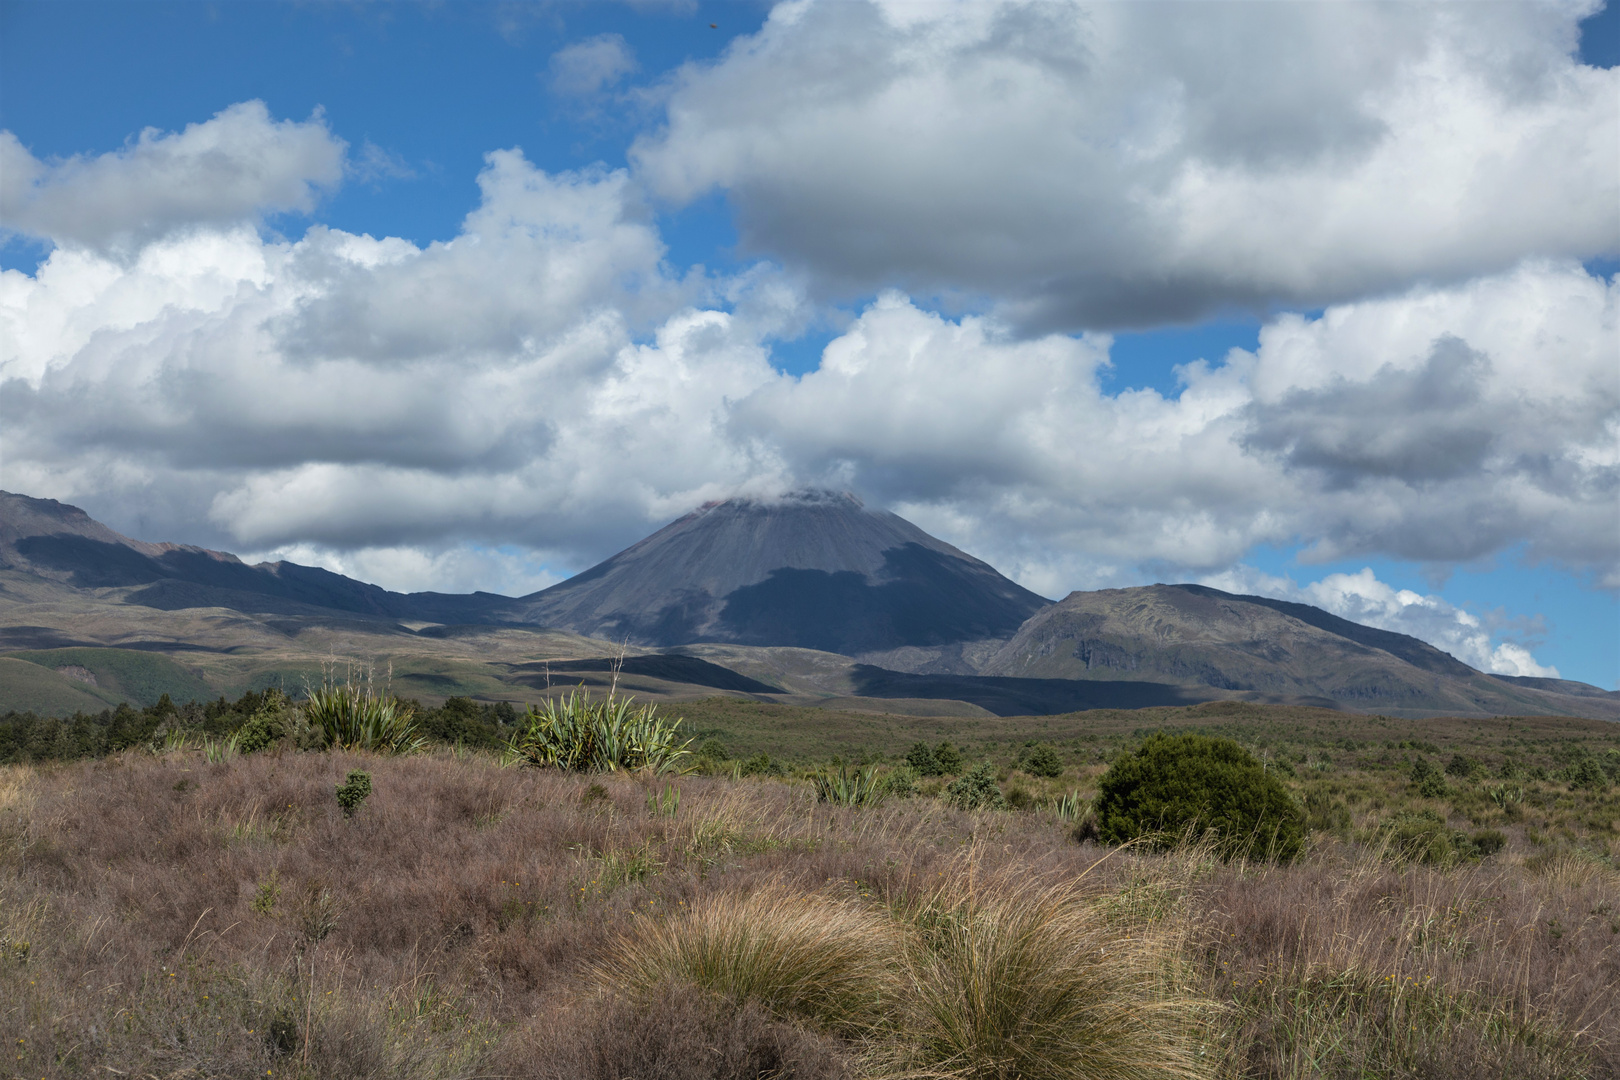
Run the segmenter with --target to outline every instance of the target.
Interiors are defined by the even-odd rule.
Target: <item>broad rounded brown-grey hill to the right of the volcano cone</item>
[[[1486,675],[1403,633],[1199,585],[1071,593],[1024,623],[980,674],[1149,680],[1387,712],[1620,717],[1612,691]]]

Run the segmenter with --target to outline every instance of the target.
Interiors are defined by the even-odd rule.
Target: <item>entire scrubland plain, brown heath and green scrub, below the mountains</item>
[[[643,714],[693,738],[659,772],[249,704],[0,772],[0,1075],[1620,1075],[1596,722],[1200,706],[805,759]],[[1241,743],[1209,771],[1299,850],[1103,844],[1108,764],[1166,732]]]

